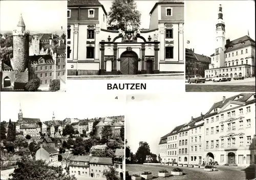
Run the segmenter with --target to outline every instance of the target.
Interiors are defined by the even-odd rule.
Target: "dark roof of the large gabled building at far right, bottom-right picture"
[[[214,105],[212,105],[212,107],[210,108],[210,110],[205,114],[205,115],[209,115],[210,112],[216,108],[222,108],[224,107],[230,100],[232,101],[238,101],[238,102],[246,102],[253,94],[255,93],[241,93],[241,94],[238,94],[238,95],[234,95],[234,96],[231,96],[231,97],[228,97],[226,98],[224,101],[221,100],[219,102],[215,102]],[[239,99],[236,99],[236,97],[238,96],[242,96],[241,98]],[[234,100],[236,99],[236,100]]]

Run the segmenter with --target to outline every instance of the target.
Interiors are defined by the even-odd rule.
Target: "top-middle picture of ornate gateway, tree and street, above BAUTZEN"
[[[68,1],[69,80],[184,80],[184,1]]]

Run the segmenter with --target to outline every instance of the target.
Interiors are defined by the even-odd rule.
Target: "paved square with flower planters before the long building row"
[[[205,172],[200,168],[189,168],[189,167],[179,167],[183,170],[184,175],[182,176],[169,176],[169,177],[158,177],[159,169],[167,169],[167,171],[172,171],[172,169],[177,166],[160,166],[160,165],[141,165],[141,164],[127,164],[125,170],[129,171],[129,175],[140,174],[142,171],[153,172],[153,178],[157,180],[177,180],[177,179],[189,179],[189,180],[245,180],[255,178],[255,168],[246,169],[243,167],[228,167],[228,166],[217,166],[218,171]],[[246,169],[246,170],[245,170]]]

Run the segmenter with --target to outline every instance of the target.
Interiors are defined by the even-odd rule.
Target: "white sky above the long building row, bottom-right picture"
[[[160,138],[177,125],[187,123],[191,116],[207,113],[215,102],[237,95],[230,92],[193,92],[174,94],[135,94],[126,99],[125,138],[135,154],[140,141],[150,145],[151,152],[158,155]]]

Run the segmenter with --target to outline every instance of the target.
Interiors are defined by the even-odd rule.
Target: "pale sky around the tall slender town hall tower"
[[[254,1],[185,1],[184,36],[186,48],[210,56],[214,53],[219,5],[222,5],[226,39],[249,35],[255,40]]]

